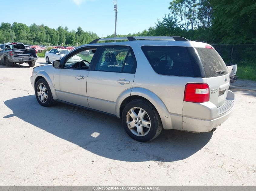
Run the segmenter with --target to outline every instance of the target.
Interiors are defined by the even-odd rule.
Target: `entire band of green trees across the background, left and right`
[[[182,36],[227,44],[256,43],[255,0],[173,0],[168,9],[170,14],[157,19],[154,26],[117,36]],[[114,37],[114,34],[107,37]],[[2,22],[0,26],[0,43],[13,39],[25,44],[81,45],[96,38],[96,33],[81,27],[69,31],[68,27],[59,26],[55,30],[43,24],[27,26],[17,22]]]

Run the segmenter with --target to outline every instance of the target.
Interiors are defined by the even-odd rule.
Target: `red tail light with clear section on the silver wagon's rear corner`
[[[208,84],[189,83],[185,86],[184,101],[203,103],[209,101]]]

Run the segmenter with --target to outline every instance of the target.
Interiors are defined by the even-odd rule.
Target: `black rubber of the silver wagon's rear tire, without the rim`
[[[128,111],[134,107],[139,107],[139,108],[145,110],[145,112],[148,114],[149,119],[151,120],[150,129],[145,136],[135,135],[128,128],[128,124],[126,122],[126,116],[128,114]],[[123,123],[123,126],[124,126],[127,134],[131,138],[133,138],[134,140],[139,141],[139,142],[147,142],[147,141],[151,141],[151,140],[155,139],[161,133],[161,131],[163,129],[161,118],[160,118],[157,110],[150,102],[148,102],[147,100],[143,100],[143,99],[133,100],[125,106],[123,113],[122,113],[122,123]]]

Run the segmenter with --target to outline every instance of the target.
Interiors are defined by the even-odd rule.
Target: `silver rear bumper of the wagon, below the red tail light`
[[[224,121],[230,116],[234,106],[234,93],[228,91],[227,100],[223,106],[219,108],[214,108],[211,105],[207,107],[204,105],[205,112],[209,113],[210,116],[217,116],[214,119],[197,119],[189,116],[182,117],[182,129],[185,131],[193,132],[210,132],[217,126],[220,126]],[[202,107],[202,105],[200,105]],[[202,110],[202,108],[200,108]],[[196,108],[195,108],[196,110]]]

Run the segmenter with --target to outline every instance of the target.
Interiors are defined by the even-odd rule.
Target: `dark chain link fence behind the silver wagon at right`
[[[216,49],[227,65],[256,66],[256,44],[209,44]]]

